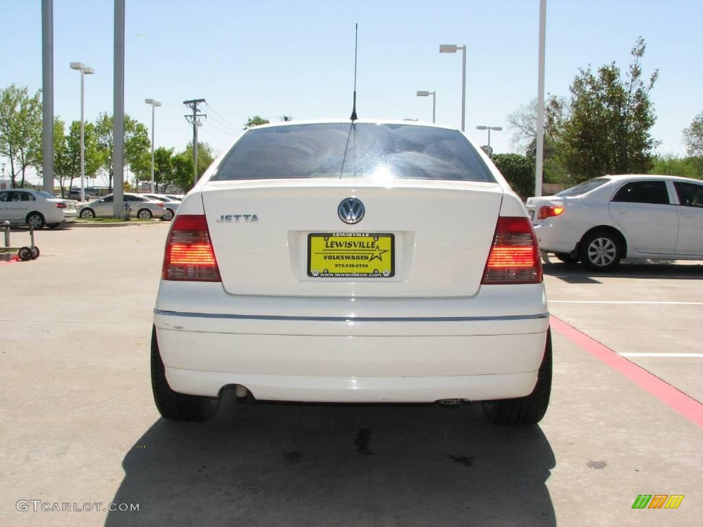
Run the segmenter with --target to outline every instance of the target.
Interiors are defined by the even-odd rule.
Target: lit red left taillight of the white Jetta
[[[166,242],[161,278],[221,282],[205,215],[176,216]]]

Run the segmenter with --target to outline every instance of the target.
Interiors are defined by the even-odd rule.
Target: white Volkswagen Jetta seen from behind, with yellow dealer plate
[[[541,260],[520,198],[456,129],[291,122],[249,129],[181,203],[151,347],[163,417],[239,399],[482,401],[546,412]]]

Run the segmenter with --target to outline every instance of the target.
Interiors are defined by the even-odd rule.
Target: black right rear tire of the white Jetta
[[[541,421],[549,406],[552,391],[552,332],[547,330],[544,356],[537,372],[537,384],[529,396],[485,401],[484,415],[494,424],[531,425]]]

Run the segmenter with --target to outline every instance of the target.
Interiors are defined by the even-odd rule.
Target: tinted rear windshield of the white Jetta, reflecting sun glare
[[[212,181],[291,178],[496,180],[456,130],[408,124],[294,124],[247,131]]]

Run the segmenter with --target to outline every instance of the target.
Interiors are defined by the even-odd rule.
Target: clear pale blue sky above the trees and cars
[[[466,129],[503,126],[496,152],[511,151],[506,116],[537,92],[538,0],[127,0],[125,111],[148,127],[157,108],[157,146],[182,150],[192,127],[183,100],[205,98],[200,139],[219,151],[250,115],[271,121],[347,119],[352,108],[354,22],[359,22],[357,112],[363,118],[432,120],[460,126],[461,57],[439,44],[467,46]],[[86,119],[112,112],[111,0],[54,0],[54,108]],[[0,86],[41,88],[41,1],[0,0]],[[643,69],[659,68],[652,91],[659,152],[685,153],[681,130],[703,111],[703,1],[548,0],[546,90],[567,96],[579,67],[614,61],[626,72],[638,35]],[[143,35],[143,36],[141,36]],[[214,113],[217,112],[217,113]]]

